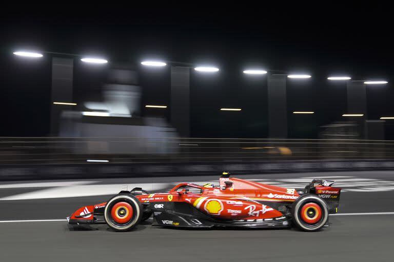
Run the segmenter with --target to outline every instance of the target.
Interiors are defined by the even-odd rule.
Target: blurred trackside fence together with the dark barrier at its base
[[[0,156],[0,180],[371,170],[394,169],[394,141],[3,137]]]

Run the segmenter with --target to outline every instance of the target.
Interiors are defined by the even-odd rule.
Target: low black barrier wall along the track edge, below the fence
[[[280,162],[233,162],[233,163],[140,163],[140,164],[61,164],[61,165],[9,165],[0,167],[0,180],[44,179],[97,179],[212,176],[229,170],[233,175],[281,173],[394,170],[394,161],[280,161]]]

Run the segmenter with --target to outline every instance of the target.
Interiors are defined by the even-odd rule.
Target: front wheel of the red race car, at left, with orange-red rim
[[[129,231],[142,219],[140,201],[132,194],[117,194],[111,198],[104,210],[107,225],[116,231]]]

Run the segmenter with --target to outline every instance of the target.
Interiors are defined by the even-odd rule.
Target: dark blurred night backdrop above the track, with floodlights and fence
[[[0,179],[393,168],[389,13],[314,7],[10,8]]]

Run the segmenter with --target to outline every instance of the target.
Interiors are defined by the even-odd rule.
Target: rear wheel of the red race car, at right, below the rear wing
[[[303,231],[317,231],[328,221],[326,202],[314,194],[302,195],[291,209],[293,222]]]

